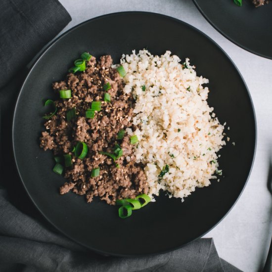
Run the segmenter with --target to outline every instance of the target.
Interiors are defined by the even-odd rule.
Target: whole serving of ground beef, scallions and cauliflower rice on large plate
[[[45,116],[41,147],[52,149],[60,187],[121,205],[119,216],[154,201],[161,190],[183,198],[222,175],[217,152],[224,125],[207,103],[208,80],[189,59],[143,49],[112,65],[88,53],[66,79],[53,84],[59,99]],[[218,180],[219,181],[219,180]]]

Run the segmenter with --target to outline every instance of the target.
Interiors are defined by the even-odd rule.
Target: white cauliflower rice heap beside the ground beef
[[[124,91],[136,99],[138,129],[127,133],[138,137],[134,155],[146,165],[149,195],[162,189],[183,201],[196,187],[208,186],[215,173],[222,175],[216,152],[226,142],[225,124],[207,103],[209,89],[202,87],[208,79],[196,75],[188,58],[180,62],[170,51],[153,56],[145,49],[121,58]]]

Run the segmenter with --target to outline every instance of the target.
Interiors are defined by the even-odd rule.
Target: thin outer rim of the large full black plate
[[[116,253],[113,253],[113,252],[107,252],[107,251],[103,251],[103,250],[99,250],[99,249],[95,249],[93,247],[91,247],[90,245],[86,245],[82,242],[79,242],[77,241],[76,239],[72,238],[69,234],[66,234],[66,232],[64,232],[63,230],[61,230],[60,228],[58,228],[53,222],[51,222],[47,216],[42,212],[42,210],[40,209],[40,207],[36,204],[36,202],[34,201],[34,199],[32,198],[31,194],[29,193],[28,189],[27,189],[27,186],[25,185],[24,181],[23,181],[23,178],[22,178],[22,175],[21,175],[21,172],[19,170],[19,165],[17,163],[17,159],[16,159],[16,151],[15,151],[15,139],[14,139],[14,133],[15,133],[15,119],[16,119],[16,113],[17,113],[17,107],[18,107],[18,104],[19,104],[19,100],[20,100],[20,97],[22,95],[22,92],[23,92],[23,89],[25,88],[25,85],[28,81],[28,78],[30,77],[30,74],[32,73],[32,71],[35,69],[35,66],[37,65],[37,63],[39,62],[39,60],[45,55],[45,53],[52,47],[54,46],[60,39],[62,39],[62,37],[68,35],[70,32],[72,32],[73,30],[75,30],[76,28],[78,27],[81,27],[82,25],[84,24],[88,24],[89,22],[91,21],[95,21],[95,20],[98,20],[98,19],[101,19],[101,18],[105,18],[105,17],[111,17],[111,16],[118,16],[118,15],[123,15],[123,14],[145,14],[145,15],[152,15],[152,16],[158,16],[158,17],[162,17],[162,18],[166,18],[168,20],[172,20],[172,21],[175,21],[179,24],[183,24],[185,26],[187,26],[188,28],[191,28],[193,31],[196,31],[198,34],[204,36],[206,39],[208,39],[213,45],[217,46],[221,52],[225,55],[225,57],[227,57],[228,61],[230,62],[230,64],[233,66],[233,68],[236,70],[238,76],[240,77],[244,87],[245,87],[245,90],[247,91],[247,94],[248,94],[248,98],[249,98],[249,102],[251,104],[251,107],[252,107],[252,113],[253,113],[253,122],[254,122],[254,150],[253,150],[253,156],[252,156],[252,162],[251,162],[251,165],[250,165],[250,169],[248,171],[248,174],[247,174],[247,178],[244,182],[244,185],[242,187],[242,189],[240,190],[240,192],[238,193],[238,197],[236,198],[236,200],[234,201],[234,203],[231,205],[231,207],[227,210],[226,214],[215,224],[213,225],[210,229],[208,229],[207,231],[205,231],[204,233],[198,235],[196,238],[192,239],[191,241],[185,243],[185,244],[182,244],[180,246],[177,246],[177,247],[173,247],[171,249],[168,249],[168,250],[163,250],[163,251],[155,251],[155,252],[152,252],[152,253],[147,253],[147,254],[116,254]],[[86,248],[87,250],[91,250],[93,252],[96,252],[96,253],[99,253],[101,255],[104,255],[104,256],[116,256],[116,257],[143,257],[143,256],[154,256],[154,255],[157,255],[157,254],[164,254],[164,253],[168,253],[168,252],[171,252],[171,251],[174,251],[174,250],[177,250],[177,249],[180,249],[181,247],[183,246],[186,246],[188,244],[190,244],[191,242],[201,238],[202,236],[204,236],[205,234],[207,234],[209,231],[211,231],[214,227],[216,227],[219,223],[222,222],[222,220],[228,215],[228,213],[232,210],[232,208],[235,206],[236,202],[238,201],[238,199],[240,198],[248,180],[249,180],[249,177],[250,177],[250,174],[252,172],[252,168],[253,168],[253,165],[254,165],[254,160],[255,160],[255,156],[256,156],[256,148],[257,148],[257,119],[256,119],[256,113],[255,113],[255,108],[254,108],[254,104],[253,104],[253,101],[252,101],[252,97],[250,95],[250,92],[248,90],[248,87],[246,85],[246,82],[244,80],[244,78],[242,77],[240,71],[238,70],[238,68],[236,67],[236,65],[234,64],[234,62],[232,61],[232,59],[228,56],[228,54],[225,52],[225,50],[220,46],[218,45],[214,40],[212,40],[208,35],[206,35],[204,32],[202,32],[201,30],[197,29],[196,27],[190,25],[189,23],[186,23],[180,19],[177,19],[175,17],[171,17],[171,16],[168,16],[168,15],[165,15],[165,14],[161,14],[161,13],[156,13],[156,12],[149,12],[149,11],[121,11],[121,12],[112,12],[112,13],[107,13],[107,14],[104,14],[104,15],[100,15],[100,16],[97,16],[97,17],[93,17],[91,19],[88,19],[70,29],[68,29],[67,31],[65,31],[63,34],[61,34],[60,36],[58,36],[57,38],[55,38],[53,41],[51,41],[49,43],[49,45],[47,45],[45,47],[45,49],[42,50],[42,52],[36,57],[35,61],[33,61],[29,71],[28,71],[28,74],[27,76],[25,77],[24,79],[24,82],[23,84],[21,85],[21,88],[20,88],[20,91],[18,93],[18,96],[17,96],[17,99],[16,99],[16,104],[15,104],[15,107],[14,107],[14,113],[13,113],[13,118],[12,118],[12,150],[13,150],[13,158],[14,158],[14,161],[15,161],[15,165],[16,165],[16,169],[17,169],[17,173],[20,177],[20,180],[23,184],[23,187],[25,188],[25,191],[27,192],[29,198],[31,199],[32,203],[35,205],[35,207],[38,209],[38,211],[41,213],[41,215],[45,218],[45,220],[52,226],[54,227],[58,232],[59,234],[62,234],[64,235],[66,238],[68,239],[71,239],[73,242],[83,246],[84,248]]]

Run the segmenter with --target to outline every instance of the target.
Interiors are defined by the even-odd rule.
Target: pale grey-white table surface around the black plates
[[[267,178],[272,157],[272,60],[249,53],[218,33],[192,0],[60,0],[72,17],[63,30],[118,11],[151,11],[198,28],[229,55],[241,72],[257,116],[257,152],[249,181],[225,219],[204,237],[213,237],[220,257],[245,272],[261,271],[272,235],[272,196]],[[250,30],[249,30],[250,31]],[[253,37],[254,39],[254,37]]]

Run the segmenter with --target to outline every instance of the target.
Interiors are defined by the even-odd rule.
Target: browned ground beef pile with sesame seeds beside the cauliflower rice
[[[85,72],[69,73],[66,80],[53,83],[52,88],[59,96],[60,90],[71,90],[72,98],[55,100],[57,113],[45,123],[40,146],[44,150],[53,150],[54,155],[70,154],[72,166],[65,169],[64,177],[69,181],[60,187],[60,194],[71,189],[86,195],[91,202],[98,196],[108,204],[115,204],[117,199],[135,198],[147,192],[143,166],[135,163],[130,137],[125,134],[117,140],[120,130],[136,128],[132,126],[132,94],[122,90],[124,83],[116,69],[111,67],[110,55],[102,56],[99,61],[92,56],[86,62]],[[107,91],[111,102],[104,102],[103,86],[109,82]],[[92,101],[101,101],[101,110],[95,112],[93,119],[86,118],[86,110]],[[76,108],[76,118],[67,121],[67,111]],[[73,147],[81,141],[88,145],[88,154],[81,160],[75,157]],[[115,143],[123,150],[123,156],[113,159],[99,151],[112,153]],[[92,178],[92,169],[100,167],[98,177]]]

